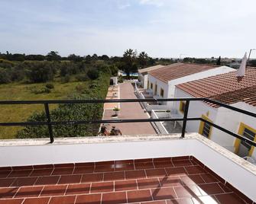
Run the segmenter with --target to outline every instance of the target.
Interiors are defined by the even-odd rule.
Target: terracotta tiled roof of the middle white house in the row
[[[204,72],[209,69],[215,69],[216,67],[219,66],[177,62],[172,65],[167,65],[161,69],[152,70],[148,73],[155,78],[158,78],[160,81],[167,83],[173,79],[193,75],[198,72]]]

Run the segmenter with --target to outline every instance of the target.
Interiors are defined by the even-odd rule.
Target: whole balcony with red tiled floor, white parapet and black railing
[[[49,139],[0,142],[0,203],[253,203],[256,166],[197,133],[187,133],[190,100],[183,118],[51,121],[51,103],[131,103],[144,100],[11,101],[44,104],[48,120],[0,123],[47,125]],[[210,100],[209,100],[210,101]],[[212,101],[211,103],[219,102]],[[254,113],[219,104],[241,113]],[[181,134],[53,139],[52,126],[85,123],[183,121]],[[205,123],[210,123],[207,120]],[[212,126],[228,130],[211,123]],[[255,146],[241,135],[228,132]]]

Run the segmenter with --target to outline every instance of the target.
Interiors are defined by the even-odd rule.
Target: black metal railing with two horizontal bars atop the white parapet
[[[50,110],[49,104],[94,104],[94,103],[131,103],[131,102],[160,102],[160,101],[186,101],[186,106],[183,114],[183,118],[160,118],[160,119],[115,119],[115,120],[76,120],[76,121],[51,121],[50,120]],[[211,100],[208,98],[197,97],[197,98],[163,98],[163,99],[115,99],[115,100],[21,100],[21,101],[0,101],[0,105],[11,105],[11,104],[44,104],[45,114],[47,116],[47,121],[45,122],[13,122],[13,123],[0,123],[0,126],[48,126],[50,143],[54,142],[53,139],[53,128],[54,125],[79,125],[88,123],[141,123],[141,122],[157,122],[157,121],[183,121],[181,137],[185,136],[186,132],[186,122],[191,120],[200,120],[204,123],[208,123],[210,126],[220,129],[221,131],[232,135],[235,138],[241,139],[250,145],[256,147],[256,142],[247,139],[242,135],[238,135],[235,132],[231,132],[222,126],[216,125],[215,123],[209,122],[201,117],[188,117],[190,101],[204,101],[209,104],[215,104],[219,107],[225,107],[229,110],[234,110],[238,113],[243,113],[248,116],[256,118],[256,113],[251,113],[247,110],[242,110],[237,107],[232,107],[228,104],[222,104],[219,101]]]

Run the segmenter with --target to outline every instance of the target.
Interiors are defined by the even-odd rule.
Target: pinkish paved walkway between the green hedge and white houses
[[[134,88],[131,82],[124,82],[120,86],[121,99],[134,99],[137,98],[134,94]],[[141,108],[139,103],[120,103],[121,110],[118,119],[145,119],[148,118],[147,113]],[[112,119],[114,114],[113,110],[105,110],[103,119]],[[155,134],[151,123],[115,123],[118,129],[121,130],[123,135],[137,135],[137,134]],[[111,129],[111,126],[108,129]]]

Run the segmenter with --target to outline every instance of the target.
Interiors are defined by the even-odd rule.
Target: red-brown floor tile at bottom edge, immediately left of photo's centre
[[[126,203],[126,192],[103,193],[102,204]]]

